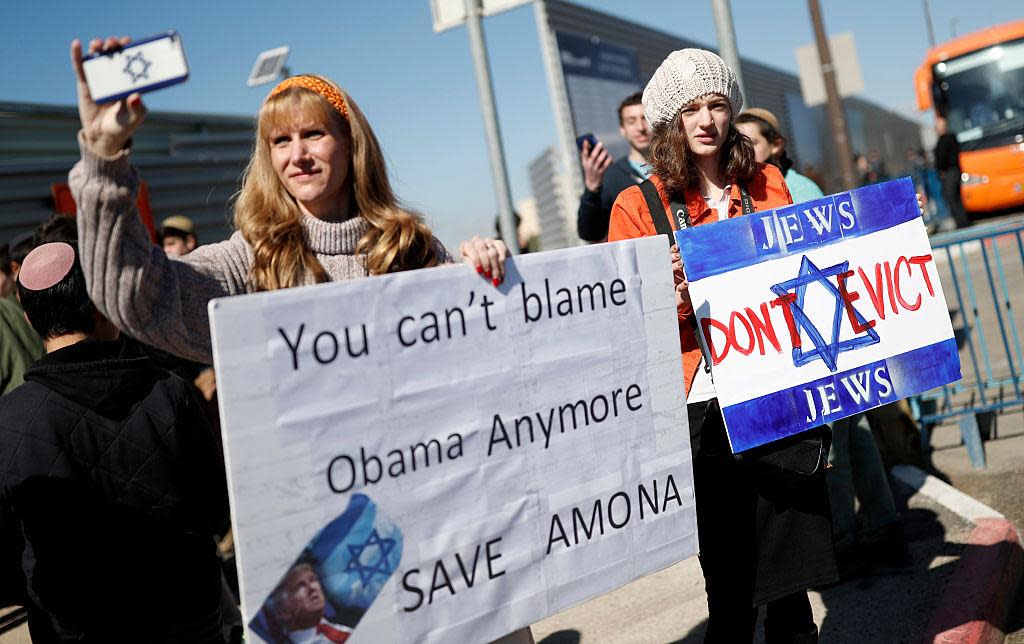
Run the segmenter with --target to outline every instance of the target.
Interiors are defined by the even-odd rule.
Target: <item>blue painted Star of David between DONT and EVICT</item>
[[[849,265],[850,262],[848,260],[835,266],[828,266],[827,268],[818,268],[814,265],[814,262],[804,255],[803,261],[800,262],[800,272],[798,275],[793,280],[776,284],[771,288],[772,292],[778,296],[786,295],[791,290],[796,289],[797,300],[790,307],[793,311],[793,319],[797,324],[798,333],[802,329],[811,339],[811,343],[814,344],[814,349],[811,351],[804,351],[803,347],[793,348],[794,367],[803,367],[819,359],[828,366],[829,371],[835,373],[839,371],[836,364],[840,353],[880,342],[879,334],[874,329],[866,329],[864,335],[858,335],[849,340],[840,340],[840,328],[843,324],[843,315],[846,307],[839,289],[828,277],[846,272]],[[827,342],[814,323],[804,313],[804,299],[807,294],[807,287],[814,283],[824,286],[825,290],[836,298],[836,312],[831,320],[831,340]],[[854,313],[857,316],[858,323],[861,325],[866,324],[864,317],[856,309],[854,309]]]

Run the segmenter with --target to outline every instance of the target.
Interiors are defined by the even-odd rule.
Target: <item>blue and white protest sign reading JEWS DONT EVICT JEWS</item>
[[[676,238],[733,452],[961,378],[910,179]]]

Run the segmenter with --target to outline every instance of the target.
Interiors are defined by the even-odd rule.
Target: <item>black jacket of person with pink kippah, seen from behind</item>
[[[93,340],[25,379],[0,398],[0,599],[35,642],[216,640],[227,488],[185,383]]]

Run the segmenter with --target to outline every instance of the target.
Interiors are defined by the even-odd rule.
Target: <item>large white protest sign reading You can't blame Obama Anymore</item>
[[[210,304],[251,641],[485,642],[696,552],[664,240],[507,265]]]

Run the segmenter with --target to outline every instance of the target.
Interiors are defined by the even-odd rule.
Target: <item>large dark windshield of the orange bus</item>
[[[1001,145],[1024,132],[1024,39],[934,68],[935,102],[966,149]]]

